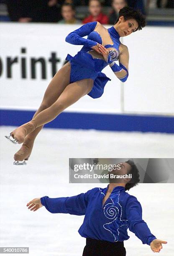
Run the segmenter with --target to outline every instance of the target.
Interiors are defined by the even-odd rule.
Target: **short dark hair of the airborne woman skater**
[[[141,13],[140,10],[134,10],[133,8],[127,6],[123,7],[118,14],[118,19],[115,24],[118,22],[121,16],[124,17],[124,20],[136,20],[138,22],[137,30],[141,30],[146,26],[146,17]]]

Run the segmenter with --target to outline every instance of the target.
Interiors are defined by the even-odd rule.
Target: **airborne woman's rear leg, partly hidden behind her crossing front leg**
[[[33,115],[33,118],[35,118],[36,115],[38,115],[38,113],[44,109],[49,108],[59,98],[65,87],[69,84],[70,71],[71,64],[67,63],[54,75],[46,89],[41,105]],[[41,125],[26,136],[20,150],[18,150],[18,152],[16,152],[14,155],[14,159],[16,161],[23,161],[24,159],[28,159],[33,148],[34,140],[43,126],[44,125]]]

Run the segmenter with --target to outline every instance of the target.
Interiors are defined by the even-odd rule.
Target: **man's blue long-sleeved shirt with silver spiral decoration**
[[[73,197],[41,197],[41,204],[52,213],[85,215],[79,234],[85,238],[117,242],[129,239],[127,229],[135,233],[143,244],[156,239],[142,220],[142,208],[136,197],[115,187],[102,205],[107,188],[93,188]]]

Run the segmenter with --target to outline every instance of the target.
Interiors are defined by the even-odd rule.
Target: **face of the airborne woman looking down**
[[[119,18],[117,30],[120,36],[128,36],[131,33],[137,31],[138,22],[134,19],[124,20],[124,17]]]

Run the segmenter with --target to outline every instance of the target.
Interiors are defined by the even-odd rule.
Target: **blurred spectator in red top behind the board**
[[[108,24],[109,19],[107,15],[101,12],[102,6],[99,0],[89,1],[89,11],[91,15],[89,15],[87,18],[84,18],[83,23],[99,21],[101,24]]]

